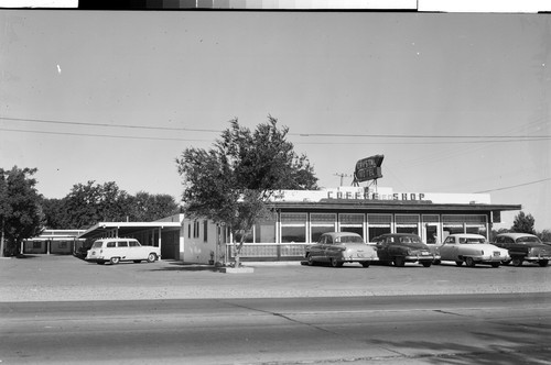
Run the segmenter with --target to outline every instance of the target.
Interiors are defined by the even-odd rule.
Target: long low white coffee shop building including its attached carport
[[[504,211],[520,204],[494,204],[488,193],[401,192],[391,188],[339,187],[282,190],[268,202],[269,220],[247,234],[242,261],[295,261],[324,232],[356,232],[366,242],[383,233],[414,233],[428,244],[452,233],[477,233],[488,239]],[[177,214],[156,222],[100,222],[79,239],[137,237],[161,247],[163,259],[184,263],[228,262],[235,242],[228,226]]]

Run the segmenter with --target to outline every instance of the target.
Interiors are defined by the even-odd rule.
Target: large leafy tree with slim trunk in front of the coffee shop
[[[289,129],[279,129],[271,115],[268,119],[251,132],[236,118],[213,148],[190,147],[176,158],[185,211],[229,226],[239,237],[236,266],[246,233],[255,222],[272,214],[267,202],[277,190],[317,189],[306,156],[299,156],[287,141]]]

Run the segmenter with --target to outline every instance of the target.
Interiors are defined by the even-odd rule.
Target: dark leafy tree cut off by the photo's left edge
[[[43,230],[36,168],[0,168],[0,255],[14,255],[23,240]]]

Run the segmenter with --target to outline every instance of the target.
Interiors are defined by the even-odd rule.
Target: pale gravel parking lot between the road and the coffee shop
[[[403,268],[246,263],[252,274],[223,274],[175,261],[96,265],[73,256],[0,259],[0,301],[182,298],[284,298],[551,291],[551,267],[455,264]]]

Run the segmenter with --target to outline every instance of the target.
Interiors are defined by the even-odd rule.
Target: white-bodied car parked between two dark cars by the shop
[[[510,259],[509,252],[487,242],[480,234],[450,234],[440,246],[441,261],[454,261],[457,266],[465,263],[468,267],[476,264],[499,267],[501,262]]]

